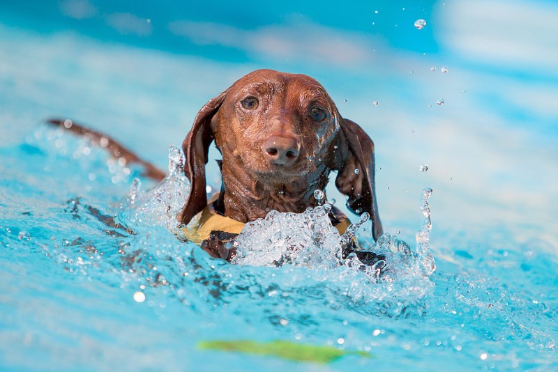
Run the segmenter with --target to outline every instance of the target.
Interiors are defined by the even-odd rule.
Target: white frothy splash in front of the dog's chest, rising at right
[[[326,204],[308,208],[301,214],[272,210],[266,218],[249,222],[234,241],[237,255],[232,263],[273,267],[292,265],[327,270],[346,268],[359,275],[364,274],[376,283],[391,283],[405,294],[413,293],[421,297],[432,287],[429,278],[435,270],[434,258],[428,247],[432,228],[428,208],[428,197],[432,191],[428,190],[424,193],[421,207],[426,221],[417,234],[420,241],[417,242],[416,251],[412,251],[406,242],[384,233],[375,243],[360,242],[359,251],[382,257],[371,265],[363,263],[355,253],[343,259],[343,249],[354,240],[357,231],[368,222],[370,216],[363,213],[343,235],[339,235],[327,217],[331,206]],[[379,293],[375,295],[382,297]]]

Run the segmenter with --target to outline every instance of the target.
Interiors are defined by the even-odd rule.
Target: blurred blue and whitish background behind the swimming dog
[[[386,231],[414,239],[430,186],[434,246],[558,252],[557,19],[553,1],[2,0],[0,146],[56,116],[165,168],[236,79],[303,73],[375,141]]]

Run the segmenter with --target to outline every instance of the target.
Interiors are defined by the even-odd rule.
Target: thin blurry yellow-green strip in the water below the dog
[[[304,345],[291,341],[275,340],[269,342],[257,342],[248,340],[236,341],[200,341],[198,348],[202,350],[221,350],[246,352],[249,354],[269,355],[297,362],[330,363],[345,355],[359,355],[361,357],[372,357],[364,351],[346,351],[333,348],[332,346]]]

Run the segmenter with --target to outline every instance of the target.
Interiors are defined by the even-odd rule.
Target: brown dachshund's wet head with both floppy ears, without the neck
[[[213,140],[223,154],[223,169],[240,164],[270,187],[338,171],[335,185],[349,197],[349,209],[370,213],[374,238],[382,234],[374,144],[359,125],[340,116],[315,79],[257,70],[199,110],[183,142],[184,171],[192,184],[181,214],[184,224],[207,205],[205,164]]]

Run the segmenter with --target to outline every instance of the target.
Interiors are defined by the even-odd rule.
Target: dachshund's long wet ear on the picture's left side
[[[211,119],[219,111],[223,100],[227,96],[224,91],[216,98],[212,98],[195,118],[192,129],[186,135],[182,143],[186,164],[184,173],[190,180],[190,195],[182,208],[180,221],[188,224],[190,220],[207,206],[205,164],[209,153],[209,145],[213,141],[213,130],[211,130]]]

